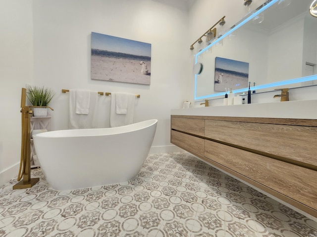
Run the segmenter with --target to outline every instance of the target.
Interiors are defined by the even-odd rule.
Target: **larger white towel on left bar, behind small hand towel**
[[[76,113],[76,90],[69,90],[69,129],[96,128],[98,92],[90,91],[89,113]]]

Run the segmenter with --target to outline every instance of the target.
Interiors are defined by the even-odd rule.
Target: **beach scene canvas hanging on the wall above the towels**
[[[151,44],[92,32],[91,79],[151,84]]]

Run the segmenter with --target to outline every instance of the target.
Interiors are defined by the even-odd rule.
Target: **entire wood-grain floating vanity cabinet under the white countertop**
[[[316,141],[315,119],[171,116],[171,143],[315,217]]]

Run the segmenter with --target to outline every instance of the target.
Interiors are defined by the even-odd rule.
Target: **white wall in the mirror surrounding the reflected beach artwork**
[[[249,62],[249,80],[252,83],[260,84],[267,78],[267,36],[244,28],[238,29],[235,34],[234,40],[224,40],[223,47],[212,46],[212,52],[206,51],[198,56],[198,62],[204,62],[205,67],[203,73],[197,76],[196,96],[218,92],[214,88],[215,57]],[[221,91],[225,91],[224,88],[227,87],[223,86]]]

